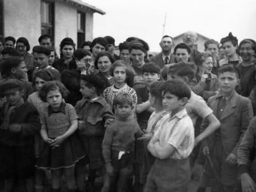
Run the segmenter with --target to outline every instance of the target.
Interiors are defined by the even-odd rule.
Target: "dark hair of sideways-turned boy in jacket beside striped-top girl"
[[[104,81],[98,76],[94,74],[81,75],[81,81],[85,81],[85,86],[88,88],[95,87],[96,93],[101,94],[104,88]]]

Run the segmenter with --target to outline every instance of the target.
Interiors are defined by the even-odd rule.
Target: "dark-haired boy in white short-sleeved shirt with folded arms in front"
[[[148,151],[156,157],[144,192],[186,192],[190,179],[189,154],[194,148],[194,127],[186,111],[190,89],[179,80],[161,86],[163,107],[169,112],[156,131]]]

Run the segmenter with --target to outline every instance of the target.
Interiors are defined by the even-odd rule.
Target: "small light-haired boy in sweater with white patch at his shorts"
[[[143,135],[138,123],[129,118],[133,108],[131,96],[128,93],[118,93],[113,104],[117,119],[107,128],[102,143],[106,176],[101,192],[113,191],[110,189],[116,183],[116,177],[117,191],[126,191],[134,163],[135,138]]]

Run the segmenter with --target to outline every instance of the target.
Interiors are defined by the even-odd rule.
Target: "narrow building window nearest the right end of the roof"
[[[85,41],[85,14],[77,13],[77,47]]]

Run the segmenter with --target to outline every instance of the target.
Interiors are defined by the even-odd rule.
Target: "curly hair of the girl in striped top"
[[[66,86],[64,86],[59,81],[47,81],[38,92],[38,95],[40,99],[44,102],[47,102],[47,94],[49,91],[55,91],[59,90],[59,92],[62,95],[62,98],[66,98],[66,96],[69,94],[69,91],[67,90]]]

